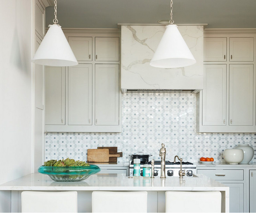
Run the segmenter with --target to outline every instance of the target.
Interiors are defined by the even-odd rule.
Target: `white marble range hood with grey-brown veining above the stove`
[[[121,26],[121,89],[126,92],[186,92],[203,89],[203,27],[178,26],[196,63],[180,68],[149,65],[165,26]]]

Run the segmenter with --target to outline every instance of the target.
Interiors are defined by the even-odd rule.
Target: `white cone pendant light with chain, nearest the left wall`
[[[61,26],[57,24],[57,1],[55,0],[54,3],[54,24],[49,26],[42,43],[37,49],[35,56],[32,58],[32,62],[48,66],[78,65],[76,57],[67,42]]]

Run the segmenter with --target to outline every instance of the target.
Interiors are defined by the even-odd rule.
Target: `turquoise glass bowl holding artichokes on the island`
[[[38,168],[39,173],[47,174],[52,180],[59,182],[83,181],[99,171],[100,167],[97,165],[72,167],[40,166]]]

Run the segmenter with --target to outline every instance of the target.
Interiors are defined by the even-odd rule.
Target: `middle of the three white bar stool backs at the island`
[[[147,192],[92,192],[92,212],[147,212]]]

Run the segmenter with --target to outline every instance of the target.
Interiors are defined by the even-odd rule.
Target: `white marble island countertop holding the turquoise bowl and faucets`
[[[197,177],[198,176],[198,177]],[[123,174],[94,174],[79,182],[56,182],[40,173],[6,182],[0,190],[75,190],[75,191],[228,191],[228,187],[202,174],[193,177],[128,178]]]

